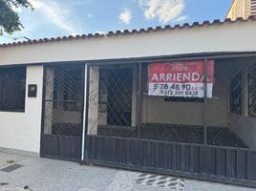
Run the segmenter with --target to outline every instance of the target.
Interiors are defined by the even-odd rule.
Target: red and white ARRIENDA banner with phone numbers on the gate
[[[214,61],[207,61],[204,86],[204,61],[152,63],[149,65],[149,96],[212,97]]]

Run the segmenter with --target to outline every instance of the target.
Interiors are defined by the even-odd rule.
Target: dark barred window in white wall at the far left
[[[0,69],[0,111],[24,112],[26,67]]]

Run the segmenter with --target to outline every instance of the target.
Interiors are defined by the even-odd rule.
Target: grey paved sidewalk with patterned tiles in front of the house
[[[0,191],[22,190],[252,191],[255,189],[0,153]]]

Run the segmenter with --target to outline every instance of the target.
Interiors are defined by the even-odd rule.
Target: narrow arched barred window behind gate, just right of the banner
[[[242,79],[241,73],[235,74],[230,81],[230,113],[242,115]]]

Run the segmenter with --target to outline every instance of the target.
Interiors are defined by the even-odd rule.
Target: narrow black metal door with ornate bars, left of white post
[[[81,156],[84,66],[46,66],[41,157]]]

